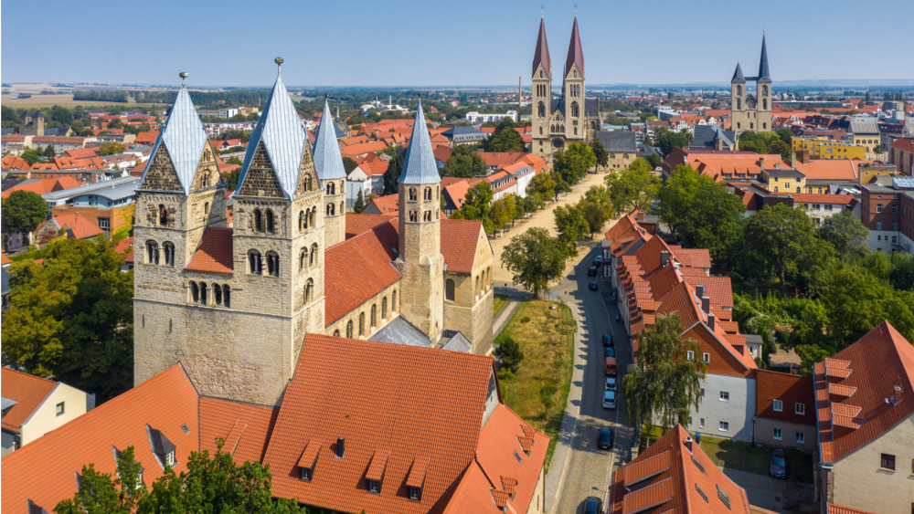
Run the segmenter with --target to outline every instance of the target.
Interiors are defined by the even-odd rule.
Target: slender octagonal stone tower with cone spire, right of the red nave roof
[[[421,98],[398,182],[400,313],[435,343],[444,328],[441,177]]]

